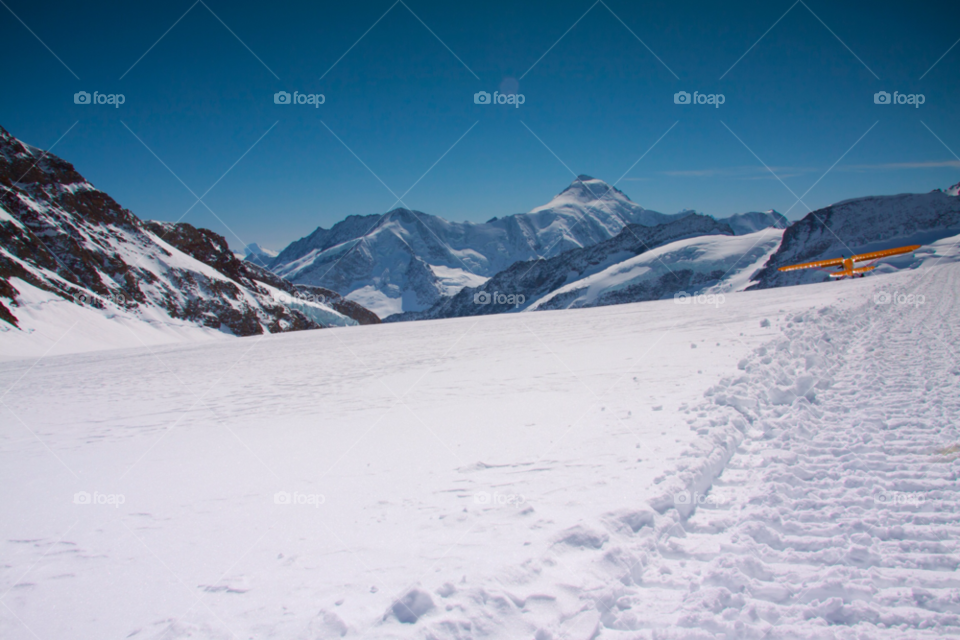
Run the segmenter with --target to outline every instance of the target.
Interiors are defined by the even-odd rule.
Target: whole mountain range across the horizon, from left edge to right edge
[[[212,231],[140,220],[0,128],[0,334],[90,317],[70,309],[98,314],[101,328],[249,336],[816,282],[826,276],[777,267],[957,236],[958,192],[857,198],[790,224],[772,210],[663,214],[581,175],[528,213],[349,216],[279,253],[248,245],[241,259]],[[916,264],[904,256],[878,273]]]

